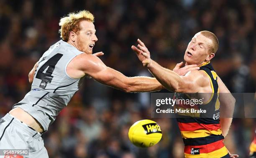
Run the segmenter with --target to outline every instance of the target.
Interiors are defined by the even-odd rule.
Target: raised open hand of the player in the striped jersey
[[[143,66],[148,66],[151,61],[148,48],[140,39],[138,39],[137,41],[138,41],[138,48],[136,46],[131,46],[131,48],[133,51],[135,51],[135,53],[138,56],[138,59],[142,62]]]

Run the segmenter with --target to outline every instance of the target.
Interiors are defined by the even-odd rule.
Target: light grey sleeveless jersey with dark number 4
[[[48,130],[59,112],[67,106],[80,87],[80,79],[67,74],[67,65],[77,55],[77,48],[64,41],[58,41],[39,59],[31,91],[13,108],[20,107],[33,116]]]

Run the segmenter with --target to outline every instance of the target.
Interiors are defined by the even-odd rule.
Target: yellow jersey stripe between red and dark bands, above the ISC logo
[[[201,138],[209,135],[221,135],[222,131],[218,130],[194,130],[194,131],[180,131],[182,138]]]

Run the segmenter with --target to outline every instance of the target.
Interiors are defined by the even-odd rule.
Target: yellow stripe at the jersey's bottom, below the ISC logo
[[[219,150],[210,153],[200,153],[199,155],[191,155],[185,153],[185,158],[221,158],[228,154],[228,149],[224,146]]]

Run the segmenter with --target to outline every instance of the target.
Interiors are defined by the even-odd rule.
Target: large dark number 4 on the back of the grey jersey
[[[44,65],[42,65],[40,67],[40,69],[38,70],[38,72],[36,74],[36,78],[42,80],[39,85],[40,88],[45,89],[46,85],[48,83],[51,83],[51,80],[53,78],[53,76],[51,76],[51,74],[53,73],[53,71],[55,69],[55,65],[58,63],[59,59],[61,59],[62,56],[63,56],[63,54],[59,54],[59,53],[55,54],[48,61],[46,61],[46,63],[44,63]],[[47,67],[48,67],[48,69],[44,73],[44,70]]]

